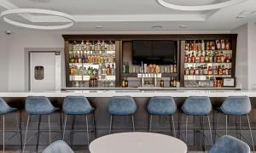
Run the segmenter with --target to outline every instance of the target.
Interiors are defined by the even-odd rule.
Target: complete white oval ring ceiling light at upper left
[[[68,23],[65,25],[58,25],[58,26],[38,26],[38,25],[31,25],[31,24],[25,24],[21,22],[17,22],[15,20],[10,20],[7,18],[7,15],[9,14],[47,14],[47,15],[53,15],[61,17],[65,20],[68,20]],[[3,11],[0,14],[0,17],[10,25],[14,26],[21,26],[25,28],[30,29],[38,29],[38,30],[59,30],[59,29],[66,29],[68,27],[71,27],[75,24],[75,20],[72,15],[65,14],[58,11],[53,11],[49,9],[38,9],[38,8],[15,8],[15,9],[8,9]]]

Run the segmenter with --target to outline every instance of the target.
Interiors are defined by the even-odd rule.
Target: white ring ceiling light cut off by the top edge
[[[198,6],[177,5],[177,4],[173,4],[173,3],[167,3],[165,0],[157,0],[157,1],[158,1],[158,3],[160,3],[160,5],[162,5],[166,8],[183,10],[183,11],[204,11],[204,10],[212,10],[212,9],[229,7],[231,5],[243,3],[247,0],[230,0],[230,1],[222,2],[222,3],[213,3],[213,4],[198,5]]]

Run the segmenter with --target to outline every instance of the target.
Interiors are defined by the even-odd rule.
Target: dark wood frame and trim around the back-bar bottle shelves
[[[177,78],[183,87],[184,76],[184,41],[185,40],[215,40],[229,39],[232,40],[232,77],[236,77],[236,39],[237,34],[143,34],[143,35],[62,35],[65,40],[65,64],[66,64],[66,87],[71,87],[69,82],[69,61],[68,61],[68,42],[81,40],[109,40],[116,43],[116,86],[120,86],[120,82],[127,74],[122,74],[123,64],[123,42],[133,40],[176,40],[177,41]],[[130,76],[130,75],[128,75]],[[131,74],[131,77],[134,75]]]

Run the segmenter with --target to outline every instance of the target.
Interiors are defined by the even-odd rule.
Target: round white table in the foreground
[[[90,143],[90,153],[186,153],[180,139],[159,133],[114,133]]]

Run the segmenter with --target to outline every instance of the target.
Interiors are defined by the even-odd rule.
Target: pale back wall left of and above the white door
[[[54,33],[13,33],[8,37],[8,65],[10,91],[26,89],[25,48],[64,48],[61,34]],[[1,79],[2,82],[2,79]]]

